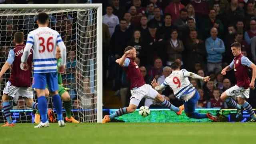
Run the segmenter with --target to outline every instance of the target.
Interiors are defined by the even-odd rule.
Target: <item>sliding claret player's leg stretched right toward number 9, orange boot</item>
[[[182,111],[184,110],[184,105],[177,108],[176,106],[168,102],[161,94],[157,94],[154,100],[161,104],[164,108],[169,108],[170,110],[174,111],[178,116],[181,115]]]

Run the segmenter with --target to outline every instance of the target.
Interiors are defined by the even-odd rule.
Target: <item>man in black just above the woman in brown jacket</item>
[[[164,14],[164,25],[158,29],[158,33],[164,38],[164,40],[170,39],[170,33],[177,27],[172,25],[172,16],[170,14]]]

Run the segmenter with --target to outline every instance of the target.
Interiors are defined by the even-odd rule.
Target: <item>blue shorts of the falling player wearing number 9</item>
[[[184,108],[185,108],[185,112],[188,114],[191,114],[193,112],[196,111],[196,103],[199,100],[199,93],[196,90],[196,93],[194,94],[194,96],[192,98],[190,98],[187,102],[183,101],[184,104]]]

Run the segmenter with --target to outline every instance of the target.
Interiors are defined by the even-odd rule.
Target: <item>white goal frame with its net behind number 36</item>
[[[82,105],[78,104],[78,107],[80,107],[74,110],[79,113],[79,121],[102,122],[102,4],[1,4],[0,33],[1,37],[4,36],[5,39],[1,38],[0,54],[3,54],[6,58],[8,57],[6,48],[12,48],[15,45],[12,41],[14,33],[17,31],[24,32],[26,42],[28,32],[36,28],[34,20],[39,12],[51,14],[50,19],[55,16],[54,22],[50,20],[53,29],[58,29],[57,31],[63,37],[69,36],[68,38],[70,38],[70,41],[67,40],[64,43],[66,46],[68,45],[67,58],[70,58],[70,61],[72,52],[75,54],[75,69],[70,68],[70,72],[66,71],[62,78],[64,78],[66,86],[70,85],[75,100]],[[72,16],[70,16],[70,13]],[[58,17],[61,20],[58,20]],[[10,19],[12,19],[12,22],[8,21]],[[5,21],[6,23],[3,24]],[[60,25],[57,24],[58,22]],[[71,27],[68,25],[71,25]],[[69,31],[72,31],[72,34]],[[2,68],[4,62],[5,60],[0,61],[0,68]],[[70,66],[72,62],[70,62]],[[68,82],[68,74],[71,75],[70,82]],[[8,81],[8,76],[5,76],[4,79]],[[72,94],[70,93],[70,95]],[[16,103],[17,100],[18,98]],[[32,110],[14,109],[13,111],[29,112]],[[0,119],[0,123],[1,121]]]

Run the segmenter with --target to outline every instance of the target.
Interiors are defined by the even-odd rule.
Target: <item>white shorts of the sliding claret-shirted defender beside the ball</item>
[[[142,98],[148,98],[154,100],[158,94],[158,92],[152,88],[149,84],[144,84],[143,86],[131,90],[131,98],[130,98],[130,104],[134,104],[135,106],[138,106],[140,104],[140,101]]]

